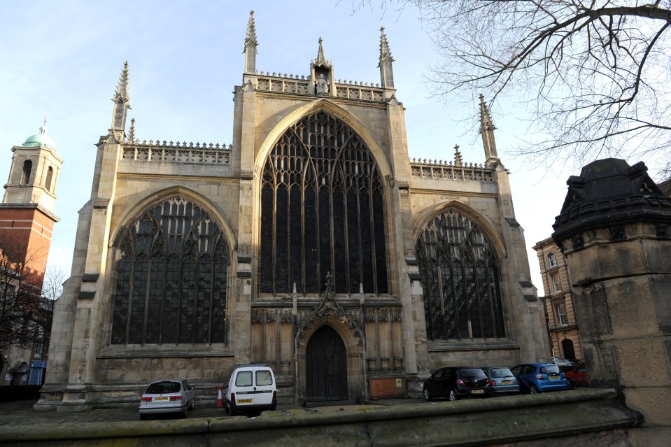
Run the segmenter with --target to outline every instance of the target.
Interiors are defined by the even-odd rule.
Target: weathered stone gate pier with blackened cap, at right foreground
[[[642,162],[603,159],[567,184],[552,237],[570,269],[591,382],[644,415],[632,445],[668,445],[671,199]]]

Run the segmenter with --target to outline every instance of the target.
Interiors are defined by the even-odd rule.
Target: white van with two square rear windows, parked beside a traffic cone
[[[272,368],[264,363],[236,367],[227,384],[224,406],[231,416],[246,410],[274,410],[277,387]]]

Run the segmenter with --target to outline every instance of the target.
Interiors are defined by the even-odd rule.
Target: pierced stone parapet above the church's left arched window
[[[233,146],[143,140],[125,143],[122,159],[133,162],[230,164]]]

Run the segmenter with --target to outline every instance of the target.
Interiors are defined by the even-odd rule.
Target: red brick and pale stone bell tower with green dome
[[[14,146],[12,152],[0,204],[0,249],[15,262],[29,262],[30,269],[41,277],[54,223],[59,221],[53,208],[63,159],[47,135],[46,119],[38,134]]]

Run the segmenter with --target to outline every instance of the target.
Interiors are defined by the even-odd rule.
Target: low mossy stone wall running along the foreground
[[[642,421],[615,390],[462,402],[268,411],[0,432],[3,446],[553,446],[626,447]],[[34,444],[32,444],[34,443]],[[660,444],[650,444],[660,445]]]

